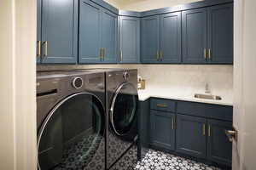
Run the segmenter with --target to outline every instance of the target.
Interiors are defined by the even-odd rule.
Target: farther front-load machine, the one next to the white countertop
[[[137,70],[107,71],[107,169],[136,146],[137,105]]]

